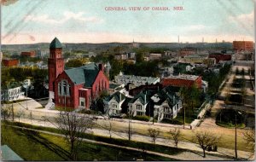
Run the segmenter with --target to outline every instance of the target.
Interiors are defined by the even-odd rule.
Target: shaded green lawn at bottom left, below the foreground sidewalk
[[[2,124],[2,145],[6,144],[25,160],[68,160],[64,138]],[[79,160],[174,160],[148,153],[83,142]]]

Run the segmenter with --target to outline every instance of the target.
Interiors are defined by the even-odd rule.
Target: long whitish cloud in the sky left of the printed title
[[[84,17],[83,12],[79,13],[73,13],[73,12],[64,12],[63,18],[55,20],[49,17],[48,14],[43,15],[26,15],[24,18],[25,21],[34,21],[38,23],[46,23],[46,24],[63,24],[67,22],[68,20],[75,20],[78,22],[94,22],[94,23],[100,23],[102,22],[102,19],[91,16],[91,17]]]

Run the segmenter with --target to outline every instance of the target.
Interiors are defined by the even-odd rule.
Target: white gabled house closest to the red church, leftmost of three
[[[105,104],[105,112],[111,115],[119,115],[122,110],[122,104],[125,101],[125,95],[120,93],[119,91],[110,95],[107,100],[104,101]]]

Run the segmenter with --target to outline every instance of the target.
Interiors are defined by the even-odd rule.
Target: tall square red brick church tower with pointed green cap
[[[48,73],[49,73],[49,101],[54,99],[55,78],[64,71],[64,59],[62,58],[62,45],[58,38],[49,44]]]

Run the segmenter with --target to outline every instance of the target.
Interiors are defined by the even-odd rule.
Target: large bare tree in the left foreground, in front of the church
[[[79,146],[82,143],[79,134],[84,134],[87,129],[92,127],[92,119],[79,116],[78,113],[60,112],[59,117],[55,118],[55,124],[70,145],[70,159],[77,160]]]

